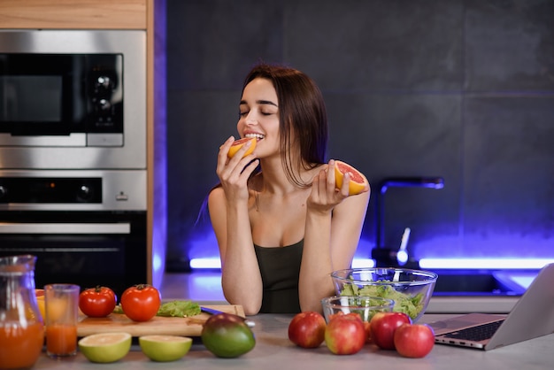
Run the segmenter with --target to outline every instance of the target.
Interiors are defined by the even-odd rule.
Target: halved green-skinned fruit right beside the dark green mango
[[[152,361],[176,361],[185,356],[192,345],[192,338],[178,335],[142,335],[139,345]]]

